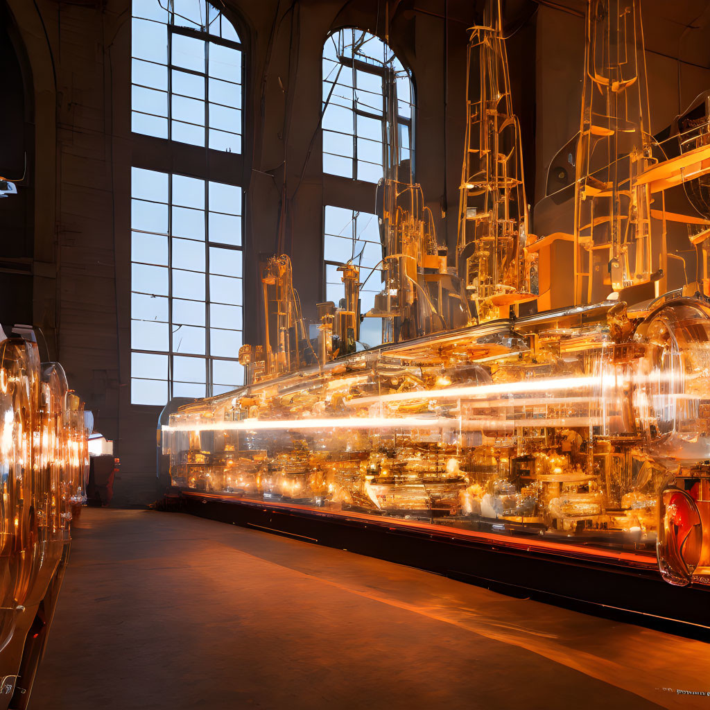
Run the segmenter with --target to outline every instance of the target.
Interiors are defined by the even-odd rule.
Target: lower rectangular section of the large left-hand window
[[[131,400],[242,381],[241,188],[133,168]]]

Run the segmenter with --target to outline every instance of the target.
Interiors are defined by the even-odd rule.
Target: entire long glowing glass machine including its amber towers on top
[[[345,264],[344,304],[321,304],[317,342],[301,342],[284,272],[283,299],[265,297],[271,340],[254,361],[244,349],[248,384],[170,415],[173,484],[534,536],[570,554],[630,550],[657,557],[672,584],[710,584],[706,275],[659,295],[667,224],[697,244],[710,234],[709,214],[667,209],[672,190],[710,175],[710,141],[694,124],[686,150],[650,158],[640,22],[634,0],[589,2],[577,226],[534,239],[492,0],[471,35],[457,267],[418,186],[386,181],[373,310],[359,314],[359,272]],[[574,294],[546,287],[523,315],[556,241],[574,246]],[[383,319],[382,346],[359,348],[361,316]]]

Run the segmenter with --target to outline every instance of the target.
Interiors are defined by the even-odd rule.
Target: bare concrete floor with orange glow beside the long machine
[[[710,645],[178,513],[83,511],[31,710],[709,708]]]

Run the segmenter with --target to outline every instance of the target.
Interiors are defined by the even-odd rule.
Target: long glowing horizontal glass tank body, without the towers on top
[[[710,307],[632,315],[486,324],[186,405],[163,431],[173,483],[665,554],[659,506],[710,522]],[[707,533],[687,535],[676,580],[710,574]]]

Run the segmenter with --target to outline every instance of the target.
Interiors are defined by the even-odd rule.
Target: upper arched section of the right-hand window
[[[323,172],[378,182],[411,160],[409,72],[380,38],[346,28],[323,48]]]

